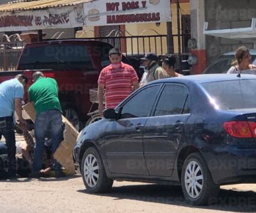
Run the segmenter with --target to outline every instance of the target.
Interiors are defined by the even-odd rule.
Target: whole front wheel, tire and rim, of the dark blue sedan
[[[87,192],[107,192],[113,185],[113,180],[107,178],[100,154],[94,147],[85,151],[82,157],[81,172]]]

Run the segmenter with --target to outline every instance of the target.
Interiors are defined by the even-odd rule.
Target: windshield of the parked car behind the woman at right
[[[251,56],[252,56],[252,62],[253,62],[256,58],[256,55],[251,55]],[[205,74],[226,73],[231,67],[233,60],[235,60],[235,55],[222,55],[210,66],[208,66],[203,73]]]

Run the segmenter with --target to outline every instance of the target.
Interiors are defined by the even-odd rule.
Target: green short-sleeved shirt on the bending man
[[[36,114],[51,109],[61,111],[58,84],[50,77],[39,77],[28,89],[29,101],[35,103]],[[62,111],[61,111],[62,112]]]

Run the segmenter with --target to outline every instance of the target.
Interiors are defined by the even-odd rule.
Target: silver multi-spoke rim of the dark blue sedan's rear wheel
[[[185,185],[188,195],[196,198],[203,188],[203,173],[200,165],[196,161],[191,161],[186,167]]]

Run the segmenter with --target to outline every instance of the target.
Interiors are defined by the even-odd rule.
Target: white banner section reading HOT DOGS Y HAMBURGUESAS
[[[85,26],[171,21],[169,0],[107,1],[84,4]]]

